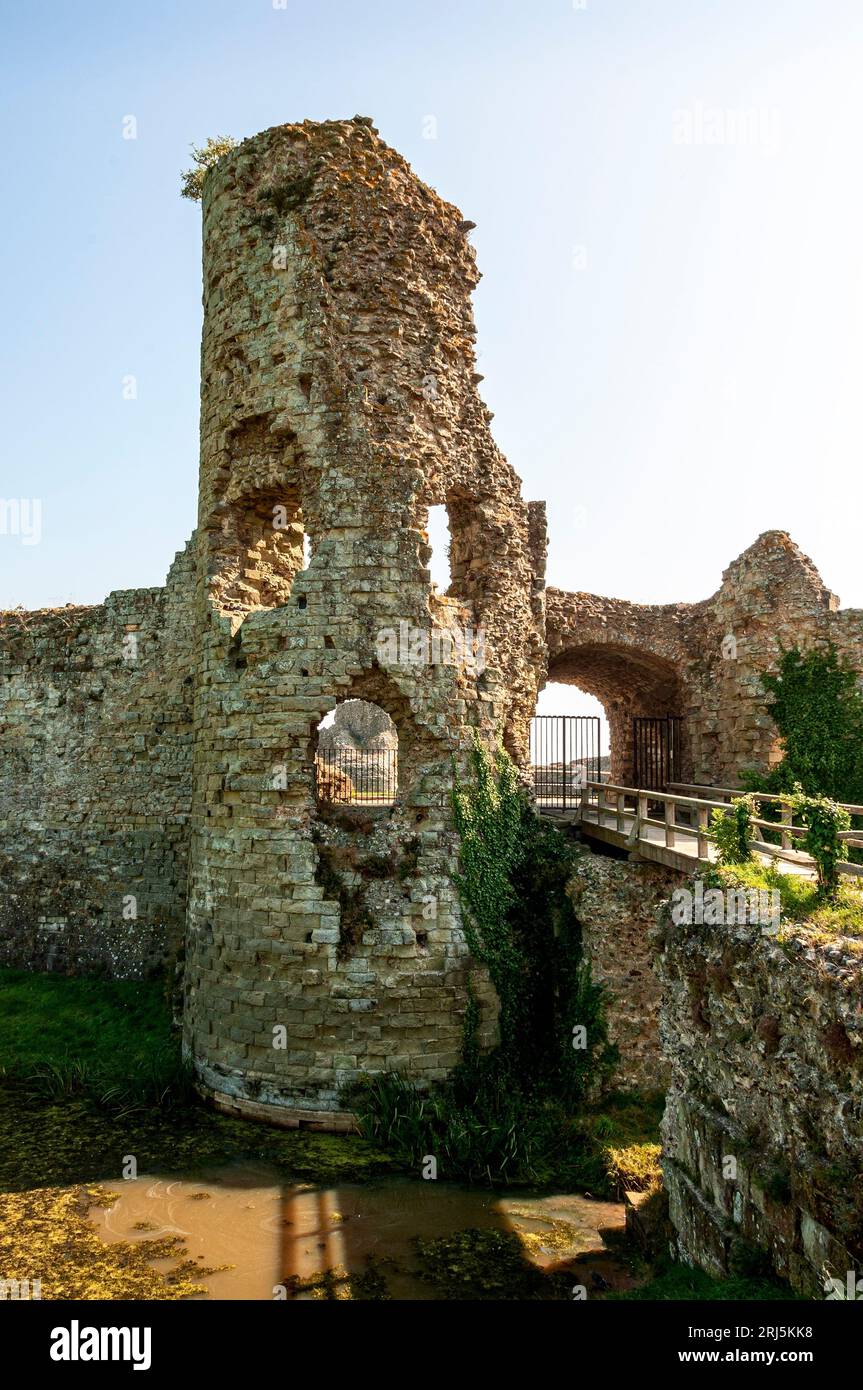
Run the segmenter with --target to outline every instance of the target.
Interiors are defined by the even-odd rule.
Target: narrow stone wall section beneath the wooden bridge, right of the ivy
[[[680,881],[678,873],[659,865],[577,851],[567,894],[591,976],[606,991],[609,1038],[620,1052],[609,1083],[614,1090],[661,1091],[668,1080],[659,1037],[660,986],[652,931]]]

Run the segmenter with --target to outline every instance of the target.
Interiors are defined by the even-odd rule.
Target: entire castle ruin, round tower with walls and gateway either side
[[[468,987],[493,1041],[453,769],[474,738],[525,767],[546,678],[605,703],[617,778],[632,716],[674,713],[687,776],[732,784],[775,755],[757,673],[781,646],[863,652],[863,613],[784,532],[699,605],[546,591],[543,503],[477,391],[468,231],[367,118],[225,154],[203,193],[197,530],[164,588],[0,616],[1,958],[179,960],[186,1054],[235,1113],[339,1127],[363,1073],[446,1076]],[[392,803],[320,794],[320,726],[347,702],[392,720]]]

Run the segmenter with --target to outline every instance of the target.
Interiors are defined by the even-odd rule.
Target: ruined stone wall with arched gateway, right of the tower
[[[784,531],[767,531],[702,603],[646,606],[548,589],[549,680],[606,708],[611,778],[632,778],[632,717],[682,714],[685,781],[738,785],[780,758],[759,681],[782,648],[832,641],[863,673],[863,612],[835,595]]]

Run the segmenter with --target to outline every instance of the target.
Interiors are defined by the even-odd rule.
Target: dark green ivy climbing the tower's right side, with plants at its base
[[[431,1155],[450,1179],[566,1173],[599,1187],[607,1159],[575,1116],[613,1072],[617,1049],[566,895],[570,847],[536,817],[510,758],[478,742],[467,778],[456,777],[453,808],[464,931],[498,991],[500,1044],[479,1054],[471,991],[452,1077],[428,1091],[395,1074],[367,1077],[349,1101],[363,1131],[411,1166]]]

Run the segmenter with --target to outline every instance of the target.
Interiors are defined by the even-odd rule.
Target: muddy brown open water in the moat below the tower
[[[106,1241],[182,1236],[188,1258],[202,1268],[229,1266],[202,1277],[203,1298],[272,1300],[292,1276],[310,1280],[325,1270],[338,1286],[345,1272],[359,1273],[370,1259],[385,1270],[389,1297],[439,1298],[441,1290],[420,1277],[414,1240],[467,1229],[513,1233],[539,1269],[575,1259],[588,1273],[602,1270],[611,1287],[632,1283],[605,1238],[623,1232],[623,1207],[589,1197],[500,1195],[410,1179],[288,1186],[275,1169],[257,1163],[206,1170],[202,1180],[161,1176],[100,1186],[117,1194],[113,1207],[92,1212]],[[288,1297],[315,1295],[289,1289]]]

